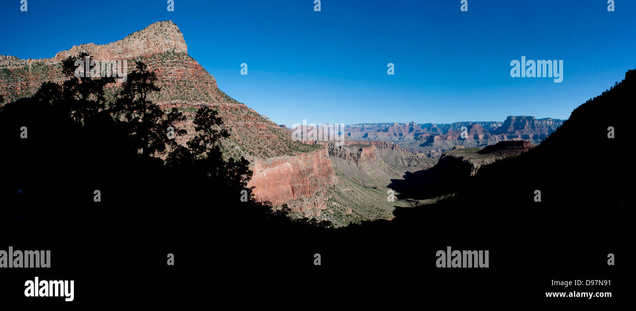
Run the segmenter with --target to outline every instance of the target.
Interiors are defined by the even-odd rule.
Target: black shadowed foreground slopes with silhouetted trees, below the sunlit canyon
[[[465,168],[441,163],[443,170],[407,173],[390,185],[403,197],[456,190],[455,197],[397,208],[391,221],[337,230],[325,228],[328,223],[289,220],[286,210],[274,212],[257,202],[246,187],[247,161],[223,159],[216,145],[225,134],[214,130],[222,128],[222,120],[213,110],[199,110],[197,136],[179,147],[160,138],[169,125],[165,120],[179,116],[162,115],[154,128],[142,122],[134,117],[140,109],[158,112],[138,93],[121,94],[121,110],[80,111],[69,109],[79,103],[64,91],[81,94],[90,81],[60,89],[47,84],[44,95],[6,104],[0,112],[0,227],[16,248],[54,251],[55,268],[43,276],[59,277],[62,271],[67,279],[92,284],[92,291],[76,298],[86,304],[105,300],[100,293],[113,288],[119,296],[156,304],[183,297],[205,302],[214,286],[223,287],[217,294],[246,287],[258,293],[315,288],[342,293],[355,281],[363,287],[385,284],[404,296],[421,294],[418,287],[396,285],[407,284],[405,279],[434,280],[427,295],[461,293],[466,300],[492,301],[494,288],[504,296],[520,289],[543,294],[546,279],[577,271],[620,279],[623,270],[604,263],[607,253],[625,255],[617,249],[625,249],[628,236],[633,72],[574,110],[525,154],[485,166],[473,177]],[[139,79],[129,81],[152,80],[142,68],[137,73]],[[81,103],[103,102],[87,92],[92,96],[80,96]],[[607,138],[609,126],[616,138]],[[165,151],[167,161],[151,151]],[[243,190],[247,201],[241,200]],[[535,190],[541,190],[541,202],[534,201]],[[436,250],[449,245],[490,249],[492,267],[461,273],[436,268]],[[177,255],[176,270],[164,273],[167,253]],[[314,265],[315,253],[321,254],[320,266]],[[581,257],[569,260],[572,254]],[[3,279],[24,283],[19,273],[3,272]],[[527,283],[502,286],[511,273]],[[92,283],[94,278],[101,281]],[[3,290],[24,299],[21,286]]]

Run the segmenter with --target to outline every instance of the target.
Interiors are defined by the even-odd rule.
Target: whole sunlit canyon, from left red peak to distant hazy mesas
[[[453,152],[467,151],[457,147],[520,140],[536,145],[563,123],[510,116],[503,122],[353,124],[339,133],[345,138],[341,143],[297,141],[292,129],[275,124],[221,91],[214,76],[188,55],[183,34],[171,21],[153,23],[114,43],[73,46],[52,58],[23,60],[0,55],[0,95],[5,102],[13,102],[32,96],[46,81],[62,84],[61,61],[79,53],[88,53],[96,61],[127,60],[128,73],[134,70],[134,62],[146,63],[156,73],[160,88],[149,99],[162,109],[176,107],[187,117],[179,124],[187,133],[176,136],[182,145],[195,134],[193,119],[200,107],[218,110],[230,133],[221,139],[223,155],[226,159],[245,157],[250,162],[248,186],[253,187],[256,199],[275,208],[286,205],[294,217],[329,220],[336,227],[391,220],[396,206],[411,206],[401,199],[387,199],[392,185],[448,161]],[[113,98],[120,88],[120,83],[109,84],[107,98]],[[509,150],[501,154],[509,155]]]

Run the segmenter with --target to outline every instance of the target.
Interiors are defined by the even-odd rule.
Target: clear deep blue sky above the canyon
[[[0,54],[52,57],[172,20],[220,89],[288,126],[566,119],[636,68],[633,0],[166,2],[3,0]],[[510,77],[522,55],[563,60],[563,82]]]

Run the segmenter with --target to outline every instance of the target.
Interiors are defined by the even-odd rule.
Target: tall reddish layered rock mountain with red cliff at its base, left
[[[333,178],[325,147],[294,142],[285,129],[218,89],[216,79],[188,55],[181,30],[170,21],[153,23],[114,43],[73,46],[53,58],[21,60],[0,56],[0,95],[5,102],[11,102],[31,96],[43,82],[61,84],[66,79],[61,60],[81,52],[96,61],[127,60],[128,72],[134,69],[134,62],[148,65],[148,70],[156,73],[156,85],[161,89],[149,99],[164,109],[177,107],[188,117],[179,124],[188,131],[176,137],[179,143],[186,143],[195,134],[192,121],[199,107],[217,109],[231,135],[222,140],[223,155],[245,157],[251,162],[254,176],[250,186],[258,199],[277,204],[314,197]],[[111,95],[120,84],[110,84],[108,88]],[[298,208],[321,206],[307,203]]]

